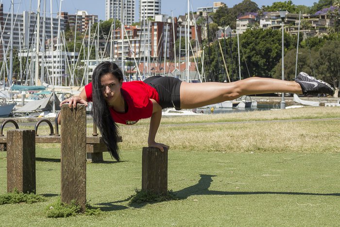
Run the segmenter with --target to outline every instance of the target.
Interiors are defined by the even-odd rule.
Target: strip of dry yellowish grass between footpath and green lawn
[[[339,121],[252,122],[160,127],[156,141],[172,150],[217,152],[338,152]],[[147,145],[148,127],[122,130],[125,149]]]

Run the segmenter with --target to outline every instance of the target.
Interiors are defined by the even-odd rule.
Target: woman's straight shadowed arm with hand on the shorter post
[[[153,99],[150,100],[153,102],[153,115],[151,116],[150,119],[148,145],[149,147],[156,147],[159,148],[161,151],[164,151],[164,147],[169,148],[169,146],[154,141],[162,118],[162,106],[160,106],[155,100]]]

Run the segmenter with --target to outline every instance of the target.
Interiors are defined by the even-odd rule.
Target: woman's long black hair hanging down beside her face
[[[123,79],[123,73],[118,68],[118,66],[109,61],[100,63],[94,70],[92,74],[92,101],[93,107],[91,115],[93,117],[94,123],[98,126],[100,132],[102,133],[102,140],[107,146],[107,149],[111,155],[117,161],[119,158],[119,147],[118,147],[118,137],[119,137],[119,127],[114,122],[110,114],[110,109],[105,102],[104,95],[102,93],[102,76],[111,73],[114,75],[119,82]]]

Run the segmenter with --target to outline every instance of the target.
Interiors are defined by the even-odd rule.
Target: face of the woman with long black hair
[[[105,101],[109,106],[112,106],[117,102],[120,97],[120,88],[122,80],[118,80],[116,76],[111,73],[107,73],[102,76],[102,93],[105,97]]]

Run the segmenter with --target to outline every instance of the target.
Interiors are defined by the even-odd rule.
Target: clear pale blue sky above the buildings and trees
[[[30,2],[32,1],[31,9],[33,12],[37,10],[38,0],[14,0],[14,13],[21,14],[23,11],[30,10]],[[43,8],[43,1],[41,0],[41,8]],[[46,0],[46,11],[50,14],[50,1]],[[214,1],[224,2],[229,8],[240,3],[242,0],[190,0],[190,11],[197,11],[198,7],[212,6]],[[258,7],[262,5],[272,5],[272,2],[279,0],[253,0]],[[284,1],[284,0],[281,0]],[[318,0],[293,0],[295,5],[312,6],[314,1]],[[10,11],[11,0],[0,0],[3,3],[3,12]],[[52,12],[56,15],[59,12],[60,0],[52,0]],[[139,0],[136,0],[136,21],[138,20],[138,6]],[[192,7],[192,10],[191,10]],[[88,14],[98,15],[100,20],[105,20],[105,0],[63,0],[61,4],[61,11],[75,14],[77,10],[85,10]],[[185,15],[187,12],[187,0],[161,0],[161,13],[171,16],[171,11],[174,17]]]

